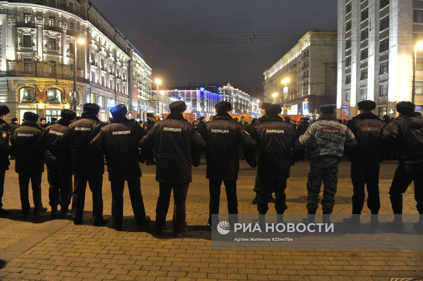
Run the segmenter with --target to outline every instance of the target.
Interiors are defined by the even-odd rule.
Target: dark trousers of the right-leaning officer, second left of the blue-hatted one
[[[72,174],[61,170],[56,164],[47,164],[47,180],[49,181],[49,205],[52,209],[66,211],[72,197]]]

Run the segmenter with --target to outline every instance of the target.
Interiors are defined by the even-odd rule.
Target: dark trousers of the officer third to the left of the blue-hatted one
[[[29,181],[32,186],[32,198],[34,202],[34,212],[37,213],[42,210],[41,203],[41,175],[39,173],[19,173],[19,192],[21,195],[22,212],[29,213],[31,206],[29,205],[28,189]]]

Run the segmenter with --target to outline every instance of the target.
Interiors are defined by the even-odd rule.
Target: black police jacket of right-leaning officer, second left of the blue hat
[[[71,155],[60,146],[60,138],[68,130],[69,120],[60,119],[56,124],[47,127],[37,141],[37,148],[45,151],[44,163],[57,164],[61,168],[70,167]]]

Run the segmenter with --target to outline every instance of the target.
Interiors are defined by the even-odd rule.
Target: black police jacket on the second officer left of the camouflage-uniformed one
[[[242,124],[233,121],[228,113],[216,114],[203,125],[200,135],[206,141],[206,178],[236,180],[239,171],[238,145],[250,154],[257,144],[244,130]]]

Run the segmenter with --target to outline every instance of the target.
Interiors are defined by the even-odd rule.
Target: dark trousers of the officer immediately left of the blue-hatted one
[[[103,175],[89,177],[75,175],[75,189],[72,195],[72,216],[74,218],[74,222],[82,222],[87,182],[90,185],[91,192],[93,193],[93,222],[100,223],[103,220]]]

